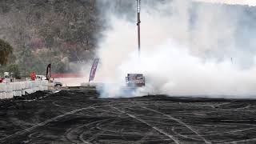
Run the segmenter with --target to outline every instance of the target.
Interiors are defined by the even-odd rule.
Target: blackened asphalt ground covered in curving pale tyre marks
[[[0,101],[1,143],[256,143],[256,101],[98,98],[92,88]]]

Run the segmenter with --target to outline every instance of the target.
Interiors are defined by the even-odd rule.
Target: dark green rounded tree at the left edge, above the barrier
[[[13,53],[13,47],[8,42],[0,39],[0,65],[6,65],[10,54]]]

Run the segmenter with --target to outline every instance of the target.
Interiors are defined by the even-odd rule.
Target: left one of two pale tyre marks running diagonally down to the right
[[[173,135],[167,134],[165,131],[161,130],[161,129],[158,128],[157,126],[152,126],[152,125],[150,125],[150,123],[144,121],[143,119],[138,118],[138,117],[136,117],[136,116],[133,115],[133,114],[126,113],[125,111],[122,111],[122,110],[118,109],[117,107],[114,107],[114,106],[110,106],[110,107],[112,107],[114,110],[118,110],[118,111],[121,112],[122,114],[128,115],[130,118],[134,118],[134,119],[138,120],[139,122],[142,122],[142,123],[146,124],[147,126],[150,126],[152,129],[157,130],[159,133],[166,135],[168,138],[170,138],[171,140],[173,140],[176,144],[179,144],[179,143],[180,143],[180,142],[178,142],[178,139],[174,138]]]

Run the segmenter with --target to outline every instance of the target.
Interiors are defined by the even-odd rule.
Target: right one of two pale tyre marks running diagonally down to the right
[[[153,112],[158,113],[158,114],[162,114],[163,116],[166,116],[167,118],[170,118],[171,120],[174,120],[174,121],[176,121],[176,122],[182,124],[183,126],[186,126],[188,129],[190,129],[192,132],[194,132],[194,134],[197,134],[198,137],[202,138],[202,140],[203,140],[204,142],[206,142],[207,144],[210,144],[210,143],[211,143],[210,141],[207,141],[206,138],[203,138],[201,134],[198,134],[198,132],[197,132],[196,130],[194,130],[191,126],[187,125],[185,122],[182,122],[182,120],[180,120],[180,119],[178,119],[178,118],[174,118],[174,117],[172,117],[172,116],[169,115],[169,114],[164,114],[164,113],[162,113],[162,112],[160,112],[160,111],[147,108],[147,107],[145,107],[145,106],[140,106],[140,107],[142,107],[143,109],[146,109],[146,110],[153,111]]]

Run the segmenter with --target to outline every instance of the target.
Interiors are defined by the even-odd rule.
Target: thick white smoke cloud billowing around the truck
[[[248,25],[252,18],[243,8],[186,0],[151,2],[142,1],[140,58],[135,16],[105,11],[110,29],[98,45],[101,65],[96,76],[105,83],[99,88],[102,97],[123,96],[127,73],[145,74],[146,87],[126,96],[143,91],[236,98],[256,94],[256,30]]]

